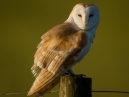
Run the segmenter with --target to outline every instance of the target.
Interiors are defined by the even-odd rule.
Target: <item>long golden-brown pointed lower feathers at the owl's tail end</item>
[[[43,69],[39,76],[34,81],[27,96],[37,93],[36,97],[40,97],[49,92],[59,82],[60,76],[64,74],[63,71],[58,71],[56,74]]]

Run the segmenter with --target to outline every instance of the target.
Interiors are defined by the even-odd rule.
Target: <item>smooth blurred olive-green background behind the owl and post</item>
[[[129,91],[129,0],[0,0],[0,93],[30,89],[34,81],[30,68],[41,35],[64,22],[80,2],[97,5],[101,20],[90,52],[73,67],[75,73],[91,77],[93,90]],[[58,97],[58,92],[45,97]]]

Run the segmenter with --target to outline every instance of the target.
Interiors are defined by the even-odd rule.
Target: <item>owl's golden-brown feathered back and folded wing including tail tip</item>
[[[73,65],[86,42],[84,32],[70,23],[60,24],[45,33],[34,56],[31,69],[36,80],[28,95],[50,91]]]

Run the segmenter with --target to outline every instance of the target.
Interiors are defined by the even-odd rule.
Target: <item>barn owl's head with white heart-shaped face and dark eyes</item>
[[[100,14],[93,4],[77,4],[66,22],[74,23],[82,30],[96,28],[99,24]]]

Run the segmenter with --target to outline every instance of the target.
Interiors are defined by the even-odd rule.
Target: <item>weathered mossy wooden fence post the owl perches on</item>
[[[82,75],[64,75],[60,78],[59,97],[92,97],[92,79]]]

